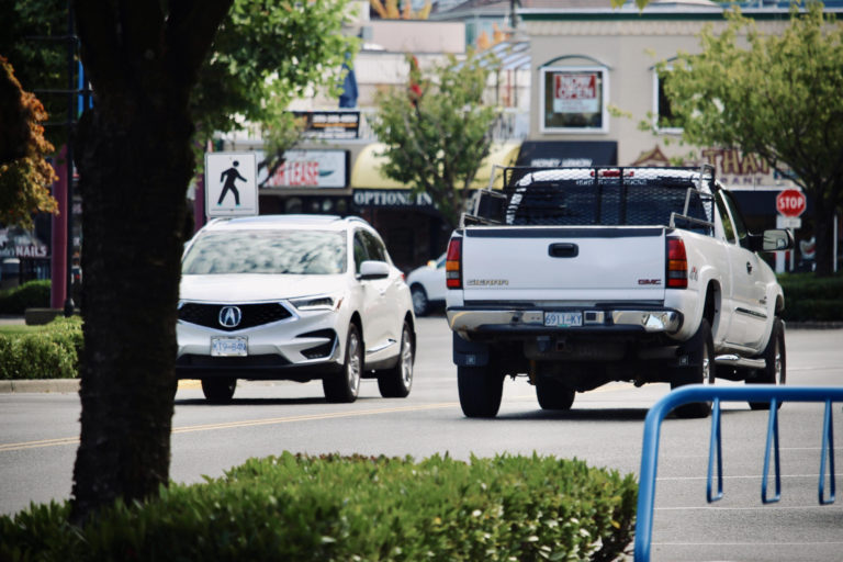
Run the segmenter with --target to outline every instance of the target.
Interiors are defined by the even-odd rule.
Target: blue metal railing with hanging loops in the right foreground
[[[782,497],[782,470],[778,456],[778,405],[784,402],[823,402],[825,415],[822,424],[822,452],[820,454],[819,502],[820,505],[834,503],[834,436],[832,431],[831,405],[843,402],[843,387],[828,386],[776,386],[753,384],[749,386],[712,386],[693,384],[671,392],[655,403],[644,420],[644,442],[641,451],[641,474],[638,488],[638,517],[636,521],[636,562],[650,560],[650,542],[653,535],[653,505],[655,503],[655,474],[659,464],[659,434],[662,420],[677,406],[692,402],[711,402],[711,439],[708,457],[708,482],[706,497],[709,503],[723,496],[723,459],[720,431],[721,402],[769,402],[767,443],[764,451],[764,476],[761,482],[763,503],[778,502]],[[771,451],[775,472],[775,494],[767,496],[767,474]],[[717,482],[713,482],[717,465]],[[825,495],[825,480],[830,480],[829,495]],[[716,490],[715,490],[716,487]]]

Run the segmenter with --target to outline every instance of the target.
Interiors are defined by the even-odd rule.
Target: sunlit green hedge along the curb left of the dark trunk
[[[0,334],[0,379],[75,379],[79,376],[82,322],[57,318],[40,329]]]

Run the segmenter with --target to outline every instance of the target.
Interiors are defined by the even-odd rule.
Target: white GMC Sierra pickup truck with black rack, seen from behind
[[[785,382],[785,297],[758,252],[793,236],[750,234],[713,169],[503,172],[507,188],[477,193],[447,252],[467,416],[497,415],[507,375],[560,411],[611,381]]]

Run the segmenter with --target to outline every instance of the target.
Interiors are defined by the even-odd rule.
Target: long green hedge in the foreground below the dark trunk
[[[82,529],[67,504],[0,517],[0,560],[617,560],[632,475],[550,457],[280,457],[177,485]]]

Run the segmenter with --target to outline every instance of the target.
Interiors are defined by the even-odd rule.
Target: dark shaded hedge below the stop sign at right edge
[[[785,321],[843,322],[843,274],[787,273],[778,282],[785,291]]]

